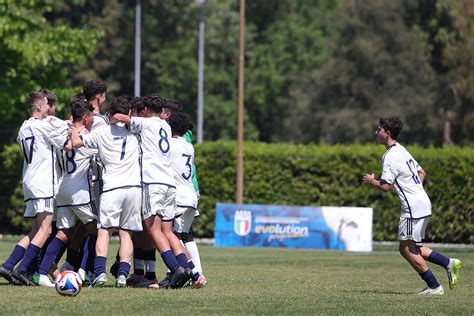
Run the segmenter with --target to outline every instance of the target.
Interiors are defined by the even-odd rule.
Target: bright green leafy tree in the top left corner
[[[48,88],[62,100],[72,95],[65,81],[70,66],[93,56],[101,32],[51,26],[44,15],[54,1],[4,0],[0,4],[0,115],[13,129],[28,115],[24,96]],[[59,107],[61,109],[61,106]]]

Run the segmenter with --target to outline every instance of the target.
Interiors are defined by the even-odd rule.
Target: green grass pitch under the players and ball
[[[0,242],[3,262],[12,240]],[[109,264],[115,256],[113,241]],[[461,281],[450,291],[444,269],[432,270],[441,297],[415,293],[424,282],[396,245],[372,253],[200,246],[204,289],[82,289],[63,297],[54,289],[14,287],[0,279],[0,314],[474,314],[474,249],[442,248],[462,260]],[[157,270],[164,274],[158,263]],[[109,276],[109,283],[113,278]]]

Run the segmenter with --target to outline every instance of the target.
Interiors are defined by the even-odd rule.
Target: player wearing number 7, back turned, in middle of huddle
[[[115,98],[110,113],[128,115],[130,103],[126,97]],[[112,229],[119,229],[120,264],[115,286],[125,287],[133,255],[132,232],[142,231],[141,183],[139,164],[139,140],[123,123],[101,126],[89,134],[79,135],[77,129],[71,133],[75,148],[97,149],[103,163],[103,193],[98,216],[95,280],[91,286],[107,283],[105,267]]]

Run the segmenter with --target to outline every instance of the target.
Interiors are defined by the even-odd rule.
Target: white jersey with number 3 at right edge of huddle
[[[176,181],[176,206],[196,209],[198,199],[192,178],[194,148],[183,137],[171,139],[171,164]]]

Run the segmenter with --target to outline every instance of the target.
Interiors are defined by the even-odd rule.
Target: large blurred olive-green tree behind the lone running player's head
[[[369,142],[379,117],[397,115],[403,138],[428,144],[436,81],[425,37],[393,1],[346,1],[334,16],[325,65],[292,91],[301,142]]]

